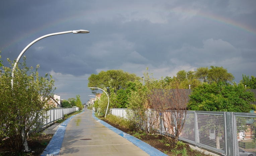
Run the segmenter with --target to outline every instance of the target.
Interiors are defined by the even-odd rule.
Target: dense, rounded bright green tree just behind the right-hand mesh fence
[[[188,108],[190,110],[249,112],[254,94],[243,85],[228,83],[203,83],[193,89]]]

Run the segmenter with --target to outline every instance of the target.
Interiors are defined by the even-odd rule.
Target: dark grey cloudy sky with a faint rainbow
[[[0,5],[0,51],[55,79],[61,99],[86,102],[90,74],[121,69],[154,78],[180,70],[219,66],[235,76],[256,76],[255,0],[4,0]],[[20,60],[22,61],[22,60]]]

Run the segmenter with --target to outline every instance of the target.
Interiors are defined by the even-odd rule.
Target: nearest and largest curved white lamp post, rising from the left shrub
[[[37,38],[36,40],[32,41],[30,44],[28,44],[22,51],[21,53],[19,54],[19,56],[17,57],[16,59],[16,62],[14,63],[13,65],[13,68],[12,68],[12,78],[11,78],[11,87],[13,88],[13,78],[14,78],[14,71],[16,69],[16,66],[21,58],[21,56],[25,53],[25,51],[30,47],[32,46],[34,43],[38,42],[39,40],[42,40],[43,38],[46,38],[46,37],[49,37],[49,36],[54,36],[54,35],[60,35],[60,34],[65,34],[65,33],[89,33],[90,31],[88,30],[70,30],[70,31],[62,31],[62,32],[56,32],[56,33],[50,33],[50,34],[47,34],[47,35],[44,35],[44,36],[41,36],[39,38]],[[23,133],[23,137],[25,137],[25,131],[22,132]],[[24,151],[29,151],[28,149],[28,145],[27,145],[27,140],[26,138],[24,138],[24,143],[23,143],[23,146],[24,146]]]

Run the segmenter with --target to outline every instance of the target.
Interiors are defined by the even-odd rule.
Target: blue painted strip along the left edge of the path
[[[78,114],[81,114],[81,113],[84,113],[84,110]],[[59,127],[56,130],[56,132],[54,133],[51,141],[46,146],[45,150],[43,151],[43,153],[40,156],[58,156],[60,154],[60,149],[61,149],[64,135],[66,132],[66,127],[67,127],[68,123],[70,122],[70,120],[78,114],[70,116],[68,119],[66,119],[63,123],[61,123],[59,125]]]

